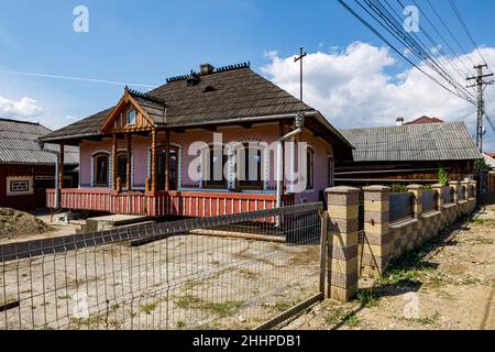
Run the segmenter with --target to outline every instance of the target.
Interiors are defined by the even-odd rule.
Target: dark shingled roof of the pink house
[[[311,107],[253,72],[249,65],[217,68],[211,74],[198,74],[199,82],[187,85],[188,76],[167,79],[167,84],[145,95],[131,95],[156,124],[187,127],[197,124],[219,124],[258,118],[315,111]],[[146,98],[151,97],[151,98]],[[165,117],[161,109],[166,103]],[[56,141],[100,134],[113,108],[100,111],[89,118],[52,132],[43,140]]]

